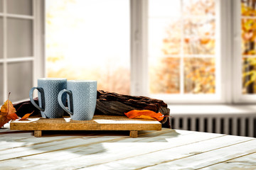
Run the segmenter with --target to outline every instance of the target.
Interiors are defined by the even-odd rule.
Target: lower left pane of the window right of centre
[[[151,57],[149,63],[150,93],[178,94],[180,92],[180,59]]]

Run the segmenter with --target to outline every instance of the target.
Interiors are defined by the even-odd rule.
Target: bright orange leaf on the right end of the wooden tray
[[[153,119],[153,120],[158,120],[161,121],[164,119],[164,115],[162,113],[155,113],[154,111],[149,111],[149,110],[133,110],[129,111],[127,113],[124,113],[127,115],[128,118],[142,118],[142,119]]]

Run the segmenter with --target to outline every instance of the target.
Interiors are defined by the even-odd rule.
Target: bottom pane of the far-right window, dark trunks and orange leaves
[[[256,94],[256,57],[242,59],[242,94]]]

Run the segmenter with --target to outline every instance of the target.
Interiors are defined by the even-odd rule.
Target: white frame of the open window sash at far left
[[[7,0],[3,0],[3,12],[0,13],[0,17],[3,18],[3,35],[4,35],[4,55],[3,58],[0,59],[0,64],[3,64],[3,79],[4,79],[4,86],[3,86],[3,96],[4,101],[8,98],[8,82],[7,82],[7,64],[13,63],[13,62],[32,62],[33,65],[33,72],[31,73],[33,75],[33,86],[36,86],[37,79],[39,77],[44,77],[44,57],[43,57],[43,1],[41,0],[33,0],[33,16],[27,16],[27,15],[20,15],[20,14],[12,14],[7,13]],[[33,21],[33,55],[27,56],[27,57],[15,57],[15,58],[8,58],[7,57],[7,18],[22,18],[22,19],[28,19]],[[26,77],[24,77],[24,81],[26,81]],[[19,86],[19,84],[17,84]],[[28,99],[28,98],[24,98]],[[0,99],[2,100],[2,99]],[[21,100],[23,101],[23,100]],[[19,101],[13,101],[13,102],[19,102]]]

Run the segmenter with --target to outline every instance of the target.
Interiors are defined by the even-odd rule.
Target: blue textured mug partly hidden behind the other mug
[[[64,111],[58,104],[59,91],[67,88],[67,79],[42,78],[38,79],[38,86],[29,92],[29,98],[33,106],[41,111],[43,118],[62,118]],[[33,91],[38,90],[38,103],[33,100]],[[65,104],[67,96],[63,95],[61,100]]]

